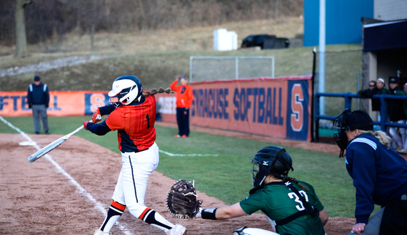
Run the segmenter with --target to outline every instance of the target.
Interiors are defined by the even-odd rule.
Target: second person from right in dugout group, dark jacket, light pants
[[[398,78],[391,77],[389,78],[388,83],[390,83],[390,95],[406,95],[406,93],[400,87],[398,87]],[[387,112],[390,122],[400,124],[406,123],[406,114],[404,113],[403,103],[403,100],[387,100]],[[393,138],[393,148],[396,150],[396,152],[403,152],[403,140],[406,140],[406,129],[390,127],[388,133]]]

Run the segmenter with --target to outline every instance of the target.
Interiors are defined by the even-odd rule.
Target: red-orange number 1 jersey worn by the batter
[[[156,98],[149,95],[138,105],[122,105],[106,118],[111,130],[118,130],[121,152],[139,152],[148,149],[156,140]]]

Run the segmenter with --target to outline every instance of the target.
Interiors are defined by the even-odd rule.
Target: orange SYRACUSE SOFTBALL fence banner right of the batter
[[[311,76],[191,83],[191,125],[311,141]],[[175,95],[159,94],[164,122],[176,122]]]

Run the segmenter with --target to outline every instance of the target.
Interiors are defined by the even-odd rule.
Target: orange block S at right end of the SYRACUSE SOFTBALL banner
[[[301,131],[303,128],[304,94],[300,84],[294,84],[291,88],[291,117],[290,124],[294,131]]]

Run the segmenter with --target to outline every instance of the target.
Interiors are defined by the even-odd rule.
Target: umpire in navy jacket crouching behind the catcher
[[[343,111],[333,126],[339,128],[334,135],[339,156],[346,157],[346,169],[356,188],[356,224],[350,235],[406,234],[406,160],[394,151],[385,132],[373,131],[373,120],[362,110]],[[371,216],[374,204],[381,209]]]

